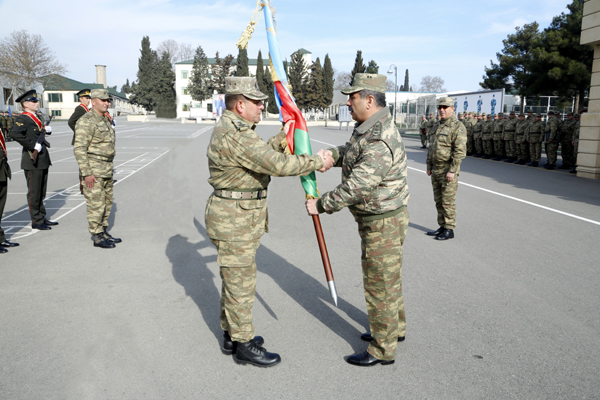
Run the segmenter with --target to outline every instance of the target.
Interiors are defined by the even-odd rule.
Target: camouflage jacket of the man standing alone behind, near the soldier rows
[[[433,174],[460,173],[460,163],[467,152],[465,127],[452,116],[440,121],[427,152],[427,170]]]

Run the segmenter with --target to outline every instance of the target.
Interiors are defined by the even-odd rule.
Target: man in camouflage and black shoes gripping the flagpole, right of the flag
[[[406,152],[385,105],[385,75],[356,74],[342,93],[356,121],[350,141],[329,149],[342,183],[308,200],[310,215],[332,214],[348,207],[358,223],[370,334],[367,351],[349,356],[352,365],[393,364],[404,340],[406,318],[402,297],[402,245],[408,229],[409,192]]]

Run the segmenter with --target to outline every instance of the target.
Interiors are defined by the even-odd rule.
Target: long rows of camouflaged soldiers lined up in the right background
[[[582,111],[585,112],[585,111]],[[560,114],[548,112],[546,121],[542,114],[532,111],[518,116],[510,113],[460,112],[458,120],[467,131],[467,155],[538,167],[545,147],[548,162],[543,166],[553,170],[567,169],[576,173],[579,144],[579,114],[568,113],[562,120]],[[439,122],[433,114],[422,117],[419,125],[422,148],[432,143],[432,134]],[[562,163],[557,165],[558,150]]]

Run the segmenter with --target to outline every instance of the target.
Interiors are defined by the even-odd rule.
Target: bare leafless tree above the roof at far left
[[[47,82],[65,74],[67,67],[56,60],[41,35],[21,30],[0,41],[0,71],[13,89],[29,90],[42,82],[42,77]]]

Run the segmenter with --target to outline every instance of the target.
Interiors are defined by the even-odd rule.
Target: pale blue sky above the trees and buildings
[[[357,50],[380,73],[398,67],[398,82],[410,71],[416,90],[426,75],[440,76],[449,91],[479,90],[484,66],[516,26],[537,21],[546,28],[567,12],[566,0],[393,1],[272,0],[282,54],[299,48],[321,63],[350,71]],[[66,64],[69,78],[93,83],[95,65],[107,66],[108,85],[136,79],[143,36],[155,49],[173,39],[202,46],[208,57],[232,53],[254,12],[256,1],[206,0],[0,0],[0,38],[15,30],[40,34]],[[8,17],[8,18],[7,18]],[[248,56],[267,53],[261,15]],[[392,76],[393,79],[393,76]]]

